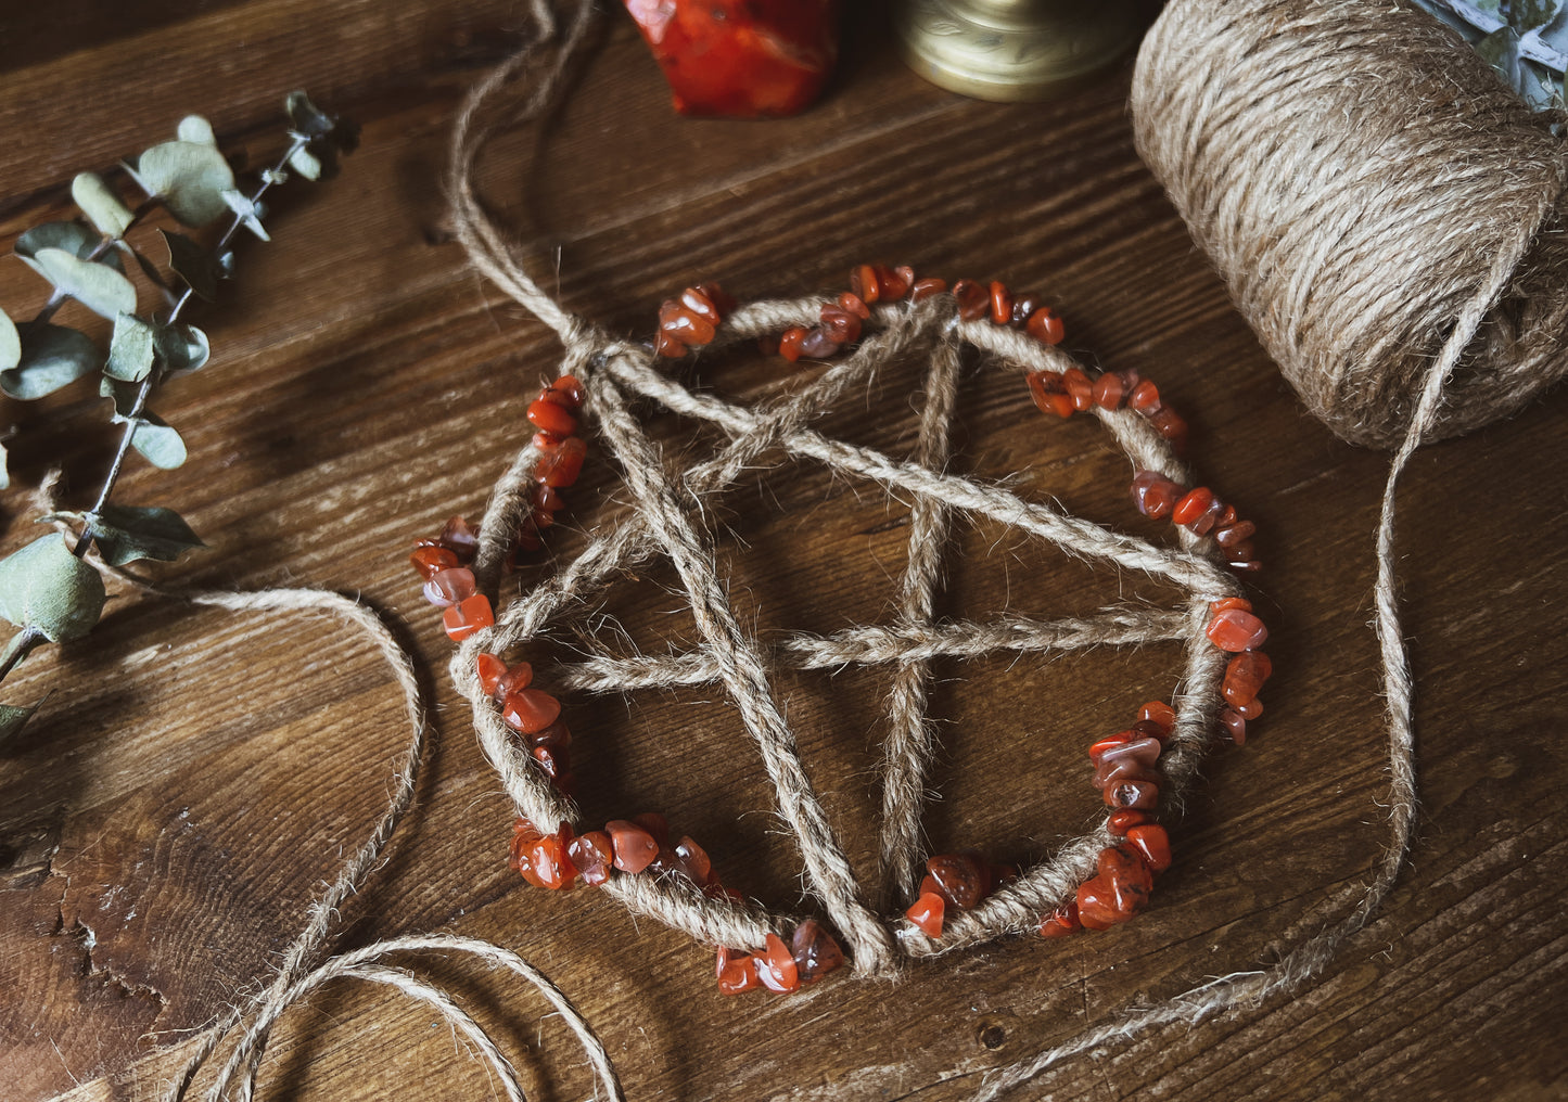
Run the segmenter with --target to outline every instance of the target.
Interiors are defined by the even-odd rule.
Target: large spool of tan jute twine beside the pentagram
[[[1403,0],[1174,0],[1137,61],[1138,152],[1308,409],[1403,437],[1457,317],[1485,303],[1427,439],[1568,372],[1565,166],[1534,114]]]

